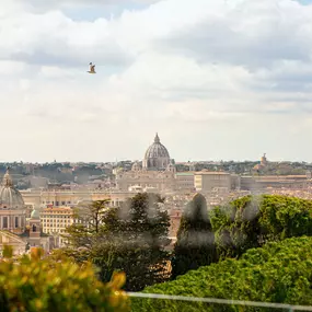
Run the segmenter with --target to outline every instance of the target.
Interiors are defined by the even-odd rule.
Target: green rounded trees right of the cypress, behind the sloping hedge
[[[210,212],[221,258],[238,257],[269,241],[312,234],[312,200],[246,196]]]

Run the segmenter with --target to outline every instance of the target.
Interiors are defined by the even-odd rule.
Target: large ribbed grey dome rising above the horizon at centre
[[[167,149],[160,142],[158,134],[154,142],[147,149],[143,167],[148,170],[165,170],[170,164]]]

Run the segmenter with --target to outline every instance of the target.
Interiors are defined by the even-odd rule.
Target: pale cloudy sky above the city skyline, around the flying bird
[[[311,56],[308,0],[1,1],[0,161],[312,162]]]

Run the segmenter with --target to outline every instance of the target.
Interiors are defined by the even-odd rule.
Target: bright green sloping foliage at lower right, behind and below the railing
[[[292,238],[200,267],[143,290],[148,293],[312,304],[312,238]],[[132,311],[269,311],[221,304],[131,299]]]

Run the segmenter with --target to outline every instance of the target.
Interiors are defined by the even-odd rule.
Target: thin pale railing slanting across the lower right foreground
[[[291,304],[286,304],[286,303],[228,300],[228,299],[218,299],[218,298],[198,298],[198,297],[172,296],[172,294],[160,294],[160,293],[142,293],[142,292],[127,292],[127,294],[132,298],[174,300],[174,301],[186,301],[186,302],[203,302],[203,303],[268,308],[268,309],[284,309],[289,312],[312,311],[312,307],[291,305]]]

